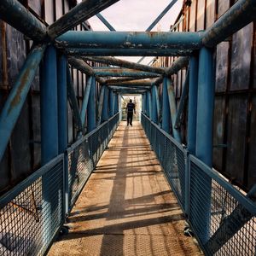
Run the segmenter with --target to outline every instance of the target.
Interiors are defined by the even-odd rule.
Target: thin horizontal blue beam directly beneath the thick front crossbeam
[[[172,48],[156,48],[156,49],[125,49],[125,48],[68,48],[67,55],[78,57],[86,56],[187,56],[191,55],[192,49],[172,49]]]

